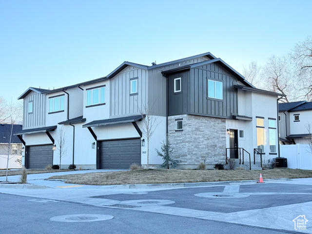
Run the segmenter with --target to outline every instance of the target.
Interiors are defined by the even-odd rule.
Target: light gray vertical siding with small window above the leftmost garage
[[[24,98],[23,129],[45,126],[46,95],[32,91]],[[33,112],[28,113],[28,103],[33,102]]]

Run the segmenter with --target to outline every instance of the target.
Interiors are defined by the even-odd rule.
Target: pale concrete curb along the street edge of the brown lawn
[[[234,180],[234,181],[219,181],[219,182],[198,182],[198,183],[171,183],[171,184],[120,184],[120,185],[103,185],[99,188],[105,189],[157,189],[157,188],[187,188],[200,186],[219,186],[219,185],[234,185],[234,184],[252,184],[259,180]],[[281,182],[291,181],[289,178],[264,179],[264,182]]]

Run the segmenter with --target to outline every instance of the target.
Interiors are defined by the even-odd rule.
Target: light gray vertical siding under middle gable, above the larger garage
[[[130,79],[138,79],[137,94],[130,95]],[[147,101],[147,70],[127,66],[110,80],[110,116],[138,114]]]

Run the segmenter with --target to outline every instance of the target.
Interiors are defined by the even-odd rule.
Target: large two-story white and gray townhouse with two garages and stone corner
[[[19,98],[24,121],[17,135],[26,147],[27,168],[59,164],[53,146],[59,147],[60,128],[67,137],[62,168],[71,163],[84,169],[145,165],[140,111],[147,106],[158,124],[149,164],[162,163],[155,149],[168,135],[179,168],[196,168],[200,162],[212,168],[226,162],[226,148],[234,148],[228,156],[235,158],[242,149],[253,158],[254,148],[278,155],[279,96],[256,89],[211,53],[152,66],[123,62],[103,78],[55,90],[28,88]]]

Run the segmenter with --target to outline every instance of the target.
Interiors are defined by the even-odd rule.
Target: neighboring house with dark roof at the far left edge
[[[22,125],[14,124],[11,135],[11,124],[0,124],[0,168],[6,168],[7,158],[9,155],[9,164],[8,168],[21,168],[21,164],[17,161],[17,159],[21,159],[21,148],[22,144],[20,139],[17,136],[14,136],[15,133],[20,132],[22,130]],[[11,149],[9,152],[9,143],[11,142]]]

